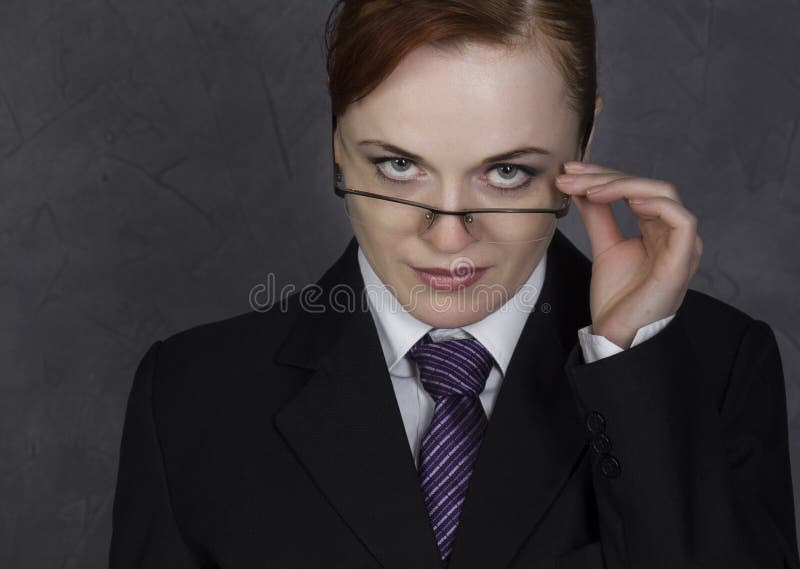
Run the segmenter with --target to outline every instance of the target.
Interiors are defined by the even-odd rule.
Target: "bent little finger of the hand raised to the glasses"
[[[677,276],[688,280],[692,258],[696,254],[697,217],[678,202],[665,197],[649,198],[638,203],[632,201],[629,205],[643,222],[640,227],[645,243],[656,240],[661,234],[652,222],[657,221],[668,229],[667,255],[654,265],[656,278],[667,281]]]

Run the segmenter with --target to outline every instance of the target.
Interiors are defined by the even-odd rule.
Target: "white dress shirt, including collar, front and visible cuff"
[[[511,355],[544,283],[547,252],[525,284],[503,306],[478,322],[452,329],[433,328],[407,312],[380,280],[360,247],[358,264],[414,464],[419,465],[419,442],[433,418],[434,401],[420,381],[416,363],[405,357],[406,352],[427,333],[437,342],[469,337],[478,340],[495,361],[486,380],[486,387],[480,394],[486,417],[490,418]],[[639,328],[631,347],[660,332],[674,316],[672,314]],[[587,364],[623,351],[623,348],[606,337],[593,334],[591,324],[578,330],[578,341]]]

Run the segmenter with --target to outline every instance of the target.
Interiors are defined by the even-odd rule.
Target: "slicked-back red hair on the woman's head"
[[[415,48],[532,42],[549,53],[581,118],[585,150],[597,94],[591,0],[338,0],[328,15],[328,90],[333,127]]]

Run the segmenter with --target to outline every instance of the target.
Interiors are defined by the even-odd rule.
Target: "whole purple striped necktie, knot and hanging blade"
[[[488,420],[478,396],[492,356],[474,338],[434,342],[426,334],[408,351],[435,406],[420,445],[419,478],[445,566]]]

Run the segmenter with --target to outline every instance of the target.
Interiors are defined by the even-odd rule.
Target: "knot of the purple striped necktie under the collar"
[[[408,351],[425,390],[438,401],[448,395],[477,397],[492,370],[492,355],[474,338],[434,342],[425,334]]]

